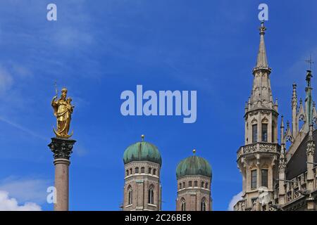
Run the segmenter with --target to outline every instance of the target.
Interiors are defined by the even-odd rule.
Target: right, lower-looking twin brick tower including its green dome
[[[211,211],[211,165],[194,155],[182,160],[176,169],[178,197],[176,211]]]

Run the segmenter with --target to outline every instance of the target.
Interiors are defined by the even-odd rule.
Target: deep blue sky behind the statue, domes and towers
[[[55,22],[46,20],[49,3],[58,7]],[[273,97],[290,120],[292,83],[304,97],[304,60],[317,58],[316,1],[1,1],[0,191],[20,205],[53,209],[45,199],[54,184],[47,144],[56,81],[75,104],[70,210],[119,210],[123,152],[141,134],[163,158],[163,210],[175,210],[175,168],[193,148],[213,169],[213,210],[227,210],[242,190],[236,151],[244,141],[261,3],[269,7]],[[120,94],[137,84],[197,90],[197,122],[123,117]]]

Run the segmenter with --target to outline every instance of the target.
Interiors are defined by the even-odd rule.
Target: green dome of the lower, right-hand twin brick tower
[[[193,150],[193,152],[195,153],[196,151]],[[201,158],[197,155],[192,155],[189,158],[185,158],[184,160],[180,161],[176,169],[177,179],[187,175],[201,175],[211,178],[211,165],[204,158]]]

